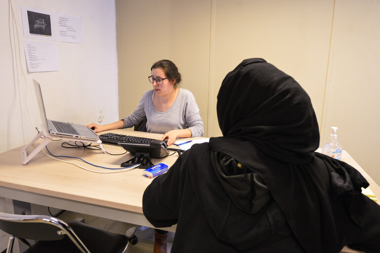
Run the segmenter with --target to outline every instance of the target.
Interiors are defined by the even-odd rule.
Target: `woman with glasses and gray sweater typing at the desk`
[[[200,137],[204,133],[203,121],[194,95],[178,87],[181,74],[175,64],[161,60],[151,67],[148,80],[153,89],[145,91],[137,108],[120,121],[97,125],[91,123],[95,132],[133,127],[146,119],[148,132],[163,133],[162,140],[168,139],[168,146],[177,137]]]

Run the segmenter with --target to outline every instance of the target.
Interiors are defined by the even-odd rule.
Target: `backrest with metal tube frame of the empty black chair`
[[[0,212],[0,229],[14,237],[37,241],[56,241],[67,236],[79,250],[89,253],[73,229],[55,217]]]

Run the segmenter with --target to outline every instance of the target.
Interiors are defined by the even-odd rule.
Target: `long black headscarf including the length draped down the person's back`
[[[349,165],[314,152],[318,123],[302,87],[265,60],[246,59],[224,78],[217,116],[223,137],[210,139],[211,150],[262,178],[306,252],[339,252],[332,200],[354,192],[347,206],[360,225],[353,207],[368,183]]]

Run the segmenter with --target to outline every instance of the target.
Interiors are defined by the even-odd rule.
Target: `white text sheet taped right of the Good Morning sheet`
[[[83,43],[82,19],[57,14],[58,40],[61,42]]]

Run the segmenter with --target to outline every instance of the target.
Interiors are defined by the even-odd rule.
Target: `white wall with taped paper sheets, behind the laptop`
[[[31,120],[36,127],[42,123],[33,79],[42,85],[48,119],[79,124],[96,122],[99,116],[104,117],[102,124],[118,120],[115,2],[11,0],[11,3],[15,20],[9,2],[0,1],[3,31],[0,37],[0,152],[27,144],[37,134]],[[83,43],[55,42],[58,46],[59,71],[27,72],[21,5],[82,19]],[[27,106],[31,117],[28,116]]]

